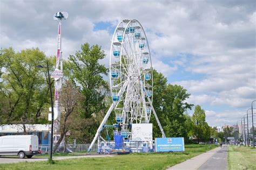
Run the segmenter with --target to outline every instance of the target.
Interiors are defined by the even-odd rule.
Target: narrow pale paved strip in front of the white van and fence
[[[83,156],[73,156],[73,157],[52,157],[53,160],[62,160],[62,159],[76,159],[76,158],[92,158],[92,157],[113,157],[114,155],[83,155]],[[17,162],[34,162],[34,161],[46,161],[48,158],[8,158],[8,157],[0,157],[0,164],[11,164],[11,163],[17,163]]]

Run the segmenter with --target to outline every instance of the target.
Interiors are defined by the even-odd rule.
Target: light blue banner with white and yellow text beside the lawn
[[[185,151],[184,138],[156,138],[156,152]]]

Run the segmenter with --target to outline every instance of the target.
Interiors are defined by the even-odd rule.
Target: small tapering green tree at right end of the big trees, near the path
[[[205,121],[205,111],[201,109],[200,105],[196,105],[194,109],[194,114],[192,116],[193,122],[193,135],[197,138],[198,143],[200,140],[206,141],[210,139],[210,127]]]

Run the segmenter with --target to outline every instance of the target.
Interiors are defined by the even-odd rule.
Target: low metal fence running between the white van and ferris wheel
[[[53,156],[76,156],[87,154],[90,144],[59,144],[57,146],[53,145]],[[35,157],[48,157],[51,151],[51,145],[39,145],[39,154]],[[90,153],[97,153],[97,145],[93,145]]]

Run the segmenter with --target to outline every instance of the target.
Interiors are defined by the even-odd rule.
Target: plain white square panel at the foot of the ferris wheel
[[[132,124],[132,141],[152,141],[152,123]]]

